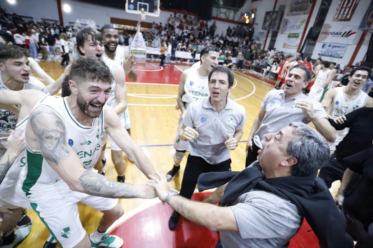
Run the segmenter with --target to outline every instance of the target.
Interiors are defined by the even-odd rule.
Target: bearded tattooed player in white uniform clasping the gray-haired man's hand
[[[92,171],[100,158],[102,131],[115,137],[145,175],[155,171],[120,125],[115,112],[104,107],[111,90],[109,68],[92,57],[81,57],[70,66],[69,79],[69,97],[56,99],[35,92],[8,91],[1,98],[3,104],[28,108],[41,98],[23,121],[27,123],[26,152],[20,156],[26,156],[28,168],[21,187],[26,194],[12,195],[10,199],[27,196],[26,202],[31,203],[62,247],[119,248],[123,241],[105,232],[123,209],[117,200],[103,197],[153,198],[154,192],[145,185],[117,183]],[[78,201],[104,212],[96,232],[89,238],[79,221]]]

